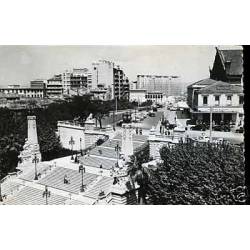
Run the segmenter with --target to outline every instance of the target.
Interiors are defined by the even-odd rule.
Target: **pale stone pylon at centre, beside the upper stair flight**
[[[132,125],[131,125],[131,115],[125,114],[123,116],[123,125],[122,125],[122,147],[121,153],[128,158],[129,156],[133,155],[133,134],[132,134]]]

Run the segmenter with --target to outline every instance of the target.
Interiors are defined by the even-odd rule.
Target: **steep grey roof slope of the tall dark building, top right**
[[[227,75],[242,75],[243,73],[243,51],[218,49],[222,62],[229,63],[226,68]]]

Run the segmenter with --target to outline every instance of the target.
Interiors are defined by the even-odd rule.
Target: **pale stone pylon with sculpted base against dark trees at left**
[[[38,144],[36,116],[27,116],[28,120],[28,138],[25,140],[23,151],[19,155],[21,165],[27,162],[32,163],[35,155],[37,161],[41,161],[41,152]]]

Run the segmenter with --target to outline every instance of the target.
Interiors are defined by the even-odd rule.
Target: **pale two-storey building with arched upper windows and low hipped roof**
[[[243,102],[242,86],[215,81],[193,92],[191,114],[194,119],[209,123],[212,112],[215,124],[223,122],[238,126],[243,123]]]

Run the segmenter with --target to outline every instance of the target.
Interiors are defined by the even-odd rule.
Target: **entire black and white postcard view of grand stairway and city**
[[[0,204],[246,203],[242,46],[0,55]]]

